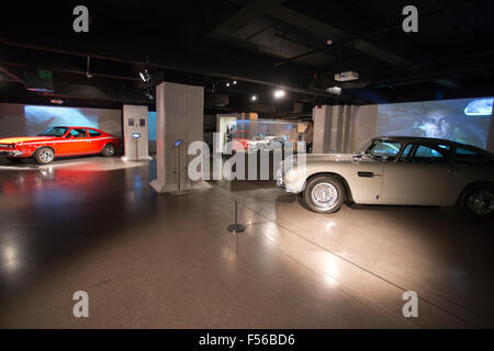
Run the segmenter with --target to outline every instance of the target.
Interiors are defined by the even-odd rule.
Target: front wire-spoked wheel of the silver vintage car
[[[311,179],[304,190],[304,202],[314,212],[337,212],[345,201],[345,188],[333,176],[319,176]]]

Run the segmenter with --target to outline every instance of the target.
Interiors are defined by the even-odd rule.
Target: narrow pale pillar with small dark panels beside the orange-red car
[[[124,105],[123,124],[125,152],[122,159],[124,161],[150,160],[147,139],[147,106]]]

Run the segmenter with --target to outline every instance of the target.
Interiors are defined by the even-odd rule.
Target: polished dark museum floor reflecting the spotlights
[[[273,182],[178,199],[151,190],[154,172],[100,157],[0,166],[0,328],[494,326],[492,223],[435,207],[318,215]],[[408,290],[418,318],[402,316]],[[72,316],[76,291],[89,318]]]

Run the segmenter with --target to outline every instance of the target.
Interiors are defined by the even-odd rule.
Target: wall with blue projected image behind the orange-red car
[[[0,103],[0,137],[32,136],[56,125],[87,126],[122,136],[122,110]]]

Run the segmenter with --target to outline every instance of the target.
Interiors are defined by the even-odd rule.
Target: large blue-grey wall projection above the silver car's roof
[[[425,136],[487,148],[493,100],[380,104],[377,135]]]

